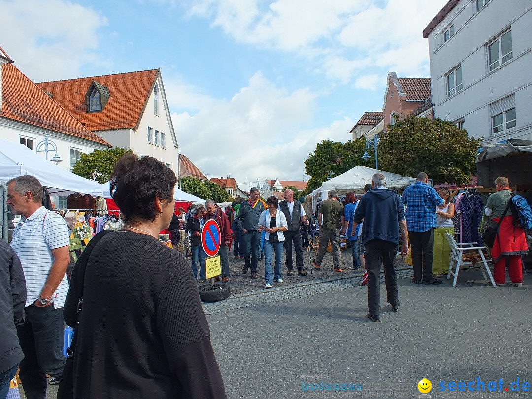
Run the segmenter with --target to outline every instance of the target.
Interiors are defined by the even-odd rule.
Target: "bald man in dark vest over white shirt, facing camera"
[[[285,251],[286,251],[286,275],[292,276],[292,269],[294,263],[292,261],[292,245],[296,251],[296,267],[298,276],[306,276],[307,272],[303,269],[303,239],[301,238],[301,223],[308,225],[306,220],[306,213],[303,205],[299,201],[294,200],[294,192],[287,188],[282,197],[285,201],[279,202],[279,209],[285,214],[288,222],[288,229],[284,232],[285,235]]]

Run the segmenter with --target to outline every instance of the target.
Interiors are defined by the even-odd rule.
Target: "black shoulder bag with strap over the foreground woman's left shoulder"
[[[72,337],[72,343],[70,347],[66,350],[68,358],[63,368],[63,376],[61,377],[61,383],[59,384],[59,389],[57,389],[57,399],[73,399],[74,398],[74,351],[76,350],[76,343],[78,341],[78,325],[79,317],[81,314],[81,305],[83,303],[83,282],[85,281],[85,272],[87,270],[87,263],[89,261],[90,253],[93,251],[94,247],[98,241],[105,236],[107,233],[114,230],[102,230],[96,234],[87,244],[85,251],[81,254],[74,270],[79,273],[79,276],[76,278],[76,282],[80,281],[79,293],[78,293],[78,311],[77,311],[77,320],[76,325],[74,326],[74,336]],[[71,281],[70,284],[75,284],[74,281]],[[67,295],[68,300],[68,295]]]

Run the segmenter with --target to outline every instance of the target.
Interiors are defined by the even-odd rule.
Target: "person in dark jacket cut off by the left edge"
[[[5,398],[9,383],[24,358],[16,334],[24,322],[26,279],[19,257],[0,239],[0,398]]]

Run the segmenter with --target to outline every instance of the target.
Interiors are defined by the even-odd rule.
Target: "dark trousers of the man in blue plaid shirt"
[[[412,248],[414,280],[421,281],[421,278],[423,280],[433,279],[434,229],[409,231],[408,236]]]

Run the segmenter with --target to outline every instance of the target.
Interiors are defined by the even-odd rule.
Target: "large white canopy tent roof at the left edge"
[[[29,174],[39,179],[50,195],[72,193],[103,195],[101,185],[54,165],[28,147],[0,139],[0,182]]]

